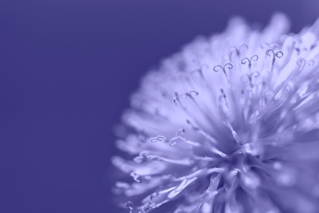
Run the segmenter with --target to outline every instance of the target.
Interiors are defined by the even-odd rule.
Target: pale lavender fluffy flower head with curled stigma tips
[[[123,115],[128,212],[319,212],[319,21],[234,18],[149,71]]]

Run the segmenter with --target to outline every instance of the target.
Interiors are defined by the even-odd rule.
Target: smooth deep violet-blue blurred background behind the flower
[[[143,73],[234,14],[274,11],[298,32],[319,1],[1,0],[0,213],[121,212],[112,127]]]

